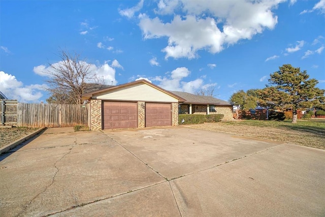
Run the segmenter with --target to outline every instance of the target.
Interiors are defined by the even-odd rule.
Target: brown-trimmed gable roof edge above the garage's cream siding
[[[147,84],[155,89],[158,89],[162,92],[165,92],[165,94],[169,95],[169,96],[172,96],[176,99],[178,99],[179,102],[184,102],[185,100],[178,96],[178,95],[175,95],[173,94],[173,92],[171,91],[168,91],[166,89],[163,89],[145,79],[141,79],[141,80],[137,80],[137,81],[133,81],[133,82],[129,82],[129,83],[124,83],[124,84],[120,84],[120,85],[116,85],[116,86],[109,86],[109,87],[104,87],[104,88],[101,88],[101,89],[97,89],[97,90],[93,90],[93,91],[90,91],[90,92],[85,92],[85,94],[81,95],[82,99],[89,99],[91,98],[94,94],[98,94],[100,92],[104,92],[104,91],[108,91],[108,90],[114,90],[114,89],[117,89],[117,88],[120,88],[120,87],[125,87],[125,86],[129,86],[129,85],[134,85],[134,84],[141,84],[141,83],[144,83],[144,84]],[[98,84],[97,84],[98,85]]]

